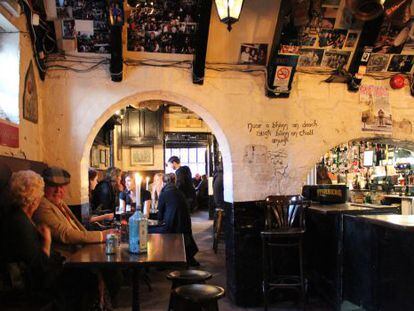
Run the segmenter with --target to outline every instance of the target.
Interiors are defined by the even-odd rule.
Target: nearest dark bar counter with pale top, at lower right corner
[[[413,215],[346,215],[343,300],[365,310],[413,310],[413,232]]]

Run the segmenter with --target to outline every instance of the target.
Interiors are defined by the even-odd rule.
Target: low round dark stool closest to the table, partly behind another
[[[172,271],[167,274],[167,279],[172,281],[171,284],[171,294],[170,294],[170,303],[168,305],[168,310],[175,310],[175,294],[174,290],[182,285],[190,284],[205,284],[205,282],[211,279],[213,275],[207,271],[201,270],[181,270],[181,271]]]

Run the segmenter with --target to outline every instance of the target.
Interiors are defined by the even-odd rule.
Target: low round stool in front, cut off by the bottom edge
[[[224,288],[207,284],[191,284],[177,287],[176,311],[218,311],[217,301],[224,296]]]

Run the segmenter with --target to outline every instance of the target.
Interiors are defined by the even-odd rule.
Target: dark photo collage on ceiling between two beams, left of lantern
[[[196,0],[139,2],[128,17],[128,51],[194,53],[196,6]]]

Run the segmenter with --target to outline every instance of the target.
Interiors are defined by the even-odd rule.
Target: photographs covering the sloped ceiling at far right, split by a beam
[[[385,7],[387,2],[389,7],[398,6],[395,11],[407,1],[387,0]],[[409,12],[409,6],[406,10]],[[400,19],[396,23],[387,12],[378,39],[367,54],[366,71],[411,72],[414,18],[409,14],[408,20]],[[347,69],[363,27],[363,22],[357,20],[349,8],[349,1],[296,1],[291,15],[284,26],[280,54],[298,55],[298,67]]]

